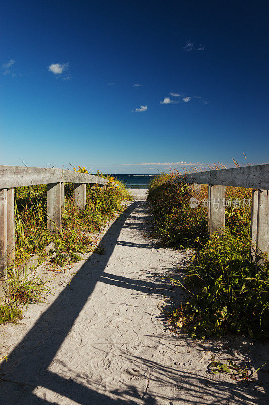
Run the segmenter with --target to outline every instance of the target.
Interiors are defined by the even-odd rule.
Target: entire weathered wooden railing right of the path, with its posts
[[[260,253],[269,255],[269,165],[245,166],[233,169],[208,170],[175,176],[174,183],[190,183],[199,195],[201,184],[208,184],[208,233],[223,233],[225,225],[226,186],[252,188],[250,255],[253,261],[263,261]],[[217,201],[217,203],[216,203]],[[221,203],[219,203],[221,201]]]

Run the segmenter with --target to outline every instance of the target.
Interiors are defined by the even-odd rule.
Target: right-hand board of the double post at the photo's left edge
[[[7,190],[7,265],[14,266],[15,248],[15,205],[14,188]]]

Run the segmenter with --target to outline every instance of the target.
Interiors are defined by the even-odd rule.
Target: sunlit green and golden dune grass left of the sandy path
[[[88,173],[85,168],[74,168]],[[98,172],[98,176],[105,177]],[[46,185],[15,189],[15,260],[8,269],[5,295],[0,303],[0,323],[16,321],[30,303],[38,303],[51,294],[48,286],[36,276],[24,274],[24,263],[33,255],[40,263],[47,258],[44,248],[54,242],[50,251],[50,267],[72,265],[80,260],[79,254],[97,249],[97,234],[115,214],[125,209],[124,201],[131,200],[125,185],[113,177],[102,189],[96,184],[87,185],[87,202],[84,211],[75,205],[74,184],[65,184],[65,209],[62,212],[61,233],[47,229]]]

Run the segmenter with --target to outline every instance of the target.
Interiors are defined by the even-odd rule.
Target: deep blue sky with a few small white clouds
[[[243,152],[268,162],[268,2],[1,10],[1,164],[158,173],[244,164]]]

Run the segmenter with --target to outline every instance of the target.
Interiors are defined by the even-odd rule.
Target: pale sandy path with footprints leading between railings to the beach
[[[104,233],[105,254],[77,263],[74,276],[57,279],[49,304],[31,305],[18,325],[0,329],[13,344],[0,369],[2,405],[266,403],[262,387],[207,373],[206,350],[223,355],[223,342],[165,328],[157,304],[175,292],[162,275],[174,274],[186,252],[149,238],[145,191],[135,194]]]

